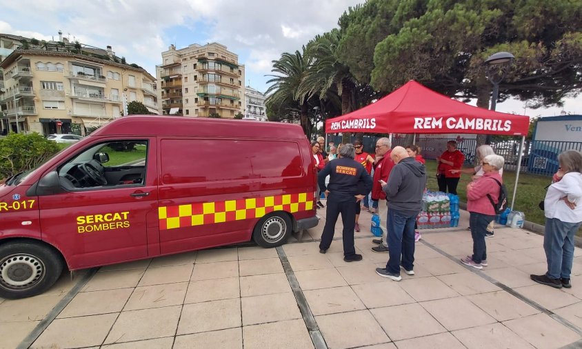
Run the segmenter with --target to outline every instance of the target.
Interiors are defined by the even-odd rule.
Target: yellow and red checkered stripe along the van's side
[[[188,203],[158,209],[160,230],[261,218],[273,211],[313,210],[313,192],[273,197]]]

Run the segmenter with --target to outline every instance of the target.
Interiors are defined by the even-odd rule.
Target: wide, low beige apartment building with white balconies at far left
[[[59,33],[60,34],[60,33]],[[31,42],[32,41],[32,42]],[[0,34],[3,130],[85,134],[120,117],[123,99],[157,110],[155,79],[107,50]],[[6,132],[6,131],[3,131]]]

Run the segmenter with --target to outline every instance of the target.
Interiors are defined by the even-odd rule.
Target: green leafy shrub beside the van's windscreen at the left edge
[[[10,133],[0,139],[0,178],[36,168],[59,151],[59,146],[36,132]]]

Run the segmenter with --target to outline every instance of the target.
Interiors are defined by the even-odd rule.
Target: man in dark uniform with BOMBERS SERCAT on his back
[[[343,222],[343,260],[361,261],[354,248],[354,225],[356,222],[356,202],[363,199],[372,190],[372,178],[361,163],[354,160],[356,150],[352,144],[346,144],[339,150],[339,159],[330,161],[319,172],[319,188],[328,198],[328,211],[325,216],[325,228],[319,243],[319,252],[325,253],[332,244],[335,223],[341,212]],[[325,177],[330,176],[330,183],[325,186]]]

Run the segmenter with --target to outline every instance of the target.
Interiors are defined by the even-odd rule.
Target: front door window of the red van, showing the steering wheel
[[[57,169],[66,190],[143,186],[148,141],[116,140],[83,150]]]

